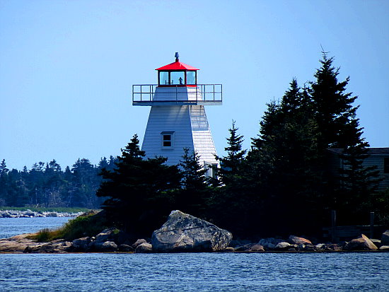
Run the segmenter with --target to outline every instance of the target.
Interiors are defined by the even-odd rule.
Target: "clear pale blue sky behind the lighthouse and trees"
[[[320,45],[350,76],[366,140],[388,147],[388,15],[387,0],[0,0],[0,159],[120,155],[149,115],[132,84],[156,83],[175,52],[199,83],[223,84],[223,105],[206,109],[219,155],[233,119],[248,148],[265,104],[313,80]]]

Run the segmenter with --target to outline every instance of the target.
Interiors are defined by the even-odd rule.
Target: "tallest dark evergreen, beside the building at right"
[[[361,136],[363,128],[359,127],[359,119],[356,118],[359,106],[354,106],[353,103],[357,96],[346,93],[349,77],[342,82],[337,80],[339,69],[335,69],[333,57],[328,58],[325,52],[320,64],[320,69],[315,73],[315,81],[308,88],[318,125],[320,156],[317,168],[327,168],[327,148],[342,148],[340,158],[343,159],[344,168],[340,170],[340,176],[333,177],[327,173],[323,176],[323,183],[328,186],[325,190],[328,208],[338,209],[344,217],[348,217],[361,211],[361,207],[365,205],[363,202],[368,200],[376,187],[378,172],[375,168],[365,168],[362,164],[368,157],[369,144]]]

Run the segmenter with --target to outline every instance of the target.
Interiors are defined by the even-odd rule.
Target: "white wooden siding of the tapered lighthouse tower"
[[[197,87],[156,88],[154,100],[175,100],[179,93],[180,100],[201,100]],[[186,95],[186,97],[184,96]],[[163,148],[161,132],[174,132],[173,147]],[[200,156],[204,165],[217,163],[216,148],[203,105],[153,105],[150,110],[141,150],[146,151],[146,158],[164,156],[166,164],[180,163],[183,149],[189,148]]]

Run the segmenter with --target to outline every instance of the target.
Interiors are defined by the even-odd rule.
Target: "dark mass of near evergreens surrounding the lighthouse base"
[[[134,135],[118,157],[117,168],[103,170],[98,197],[110,220],[135,233],[159,228],[180,209],[231,230],[234,235],[321,234],[337,210],[340,224],[366,224],[376,211],[388,224],[388,192],[378,194],[378,171],[362,165],[368,142],[362,137],[356,96],[346,92],[349,78],[323,52],[314,81],[294,78],[279,101],[267,104],[259,134],[243,149],[233,122],[221,168],[205,177],[197,153],[184,149],[180,165],[167,158],[145,159]],[[341,148],[344,168],[334,175],[329,148]]]

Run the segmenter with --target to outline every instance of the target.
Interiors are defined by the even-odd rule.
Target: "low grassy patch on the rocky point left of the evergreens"
[[[58,229],[50,230],[45,228],[35,235],[31,235],[30,238],[40,243],[56,239],[71,241],[85,236],[95,236],[105,228],[108,228],[108,226],[102,212],[89,211],[86,214],[71,219]]]

